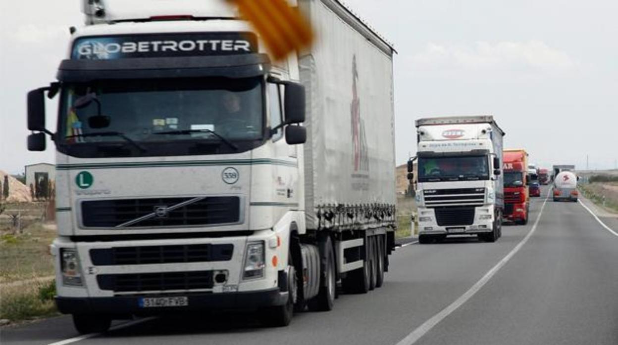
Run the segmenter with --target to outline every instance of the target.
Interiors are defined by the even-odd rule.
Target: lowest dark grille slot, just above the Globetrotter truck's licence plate
[[[103,274],[99,289],[114,292],[169,291],[213,288],[213,271]]]

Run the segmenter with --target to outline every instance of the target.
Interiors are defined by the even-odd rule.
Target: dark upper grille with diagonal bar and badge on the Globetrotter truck
[[[240,198],[159,197],[82,202],[85,227],[182,227],[236,223]]]

